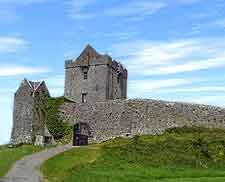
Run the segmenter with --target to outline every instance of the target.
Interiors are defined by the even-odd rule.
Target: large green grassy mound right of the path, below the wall
[[[184,127],[117,138],[59,154],[41,171],[49,182],[224,182],[225,131]]]

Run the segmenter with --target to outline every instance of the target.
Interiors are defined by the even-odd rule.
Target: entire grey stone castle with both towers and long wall
[[[111,138],[161,134],[184,125],[225,128],[225,109],[213,106],[127,100],[127,70],[88,45],[75,60],[65,62],[64,96],[70,102],[60,116],[73,126],[73,145]],[[24,80],[14,99],[11,143],[52,143],[46,125],[50,96],[44,82]]]

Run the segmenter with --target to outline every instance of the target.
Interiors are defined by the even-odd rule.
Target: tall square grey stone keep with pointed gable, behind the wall
[[[65,62],[65,97],[74,102],[127,98],[127,70],[90,45],[75,60]]]

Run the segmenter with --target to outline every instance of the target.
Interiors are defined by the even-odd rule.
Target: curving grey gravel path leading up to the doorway
[[[40,165],[47,159],[72,148],[71,144],[46,149],[17,161],[6,175],[4,182],[43,182]],[[1,180],[0,180],[1,181]]]

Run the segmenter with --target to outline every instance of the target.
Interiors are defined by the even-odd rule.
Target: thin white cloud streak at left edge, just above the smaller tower
[[[46,68],[32,68],[24,66],[0,66],[0,76],[16,76],[48,72]]]

